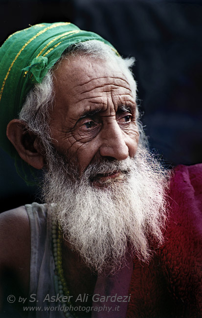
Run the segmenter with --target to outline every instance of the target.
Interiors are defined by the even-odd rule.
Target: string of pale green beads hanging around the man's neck
[[[62,241],[63,235],[59,227],[55,223],[52,223],[52,242],[53,242],[53,256],[55,262],[55,275],[54,275],[54,284],[55,291],[58,291],[58,294],[61,295],[63,299],[64,296],[69,300],[69,291],[67,288],[67,283],[64,276],[63,264],[62,264]],[[77,318],[74,312],[67,311],[67,307],[71,305],[70,301],[62,301],[64,306],[64,315],[67,318]]]

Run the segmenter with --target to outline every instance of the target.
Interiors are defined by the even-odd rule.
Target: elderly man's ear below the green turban
[[[6,135],[24,161],[36,169],[43,168],[45,159],[41,153],[39,139],[26,129],[22,120],[11,120]]]

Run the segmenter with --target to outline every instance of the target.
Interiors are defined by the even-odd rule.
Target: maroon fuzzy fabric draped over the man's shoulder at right
[[[134,260],[127,318],[202,317],[202,164],[175,168],[166,242]]]

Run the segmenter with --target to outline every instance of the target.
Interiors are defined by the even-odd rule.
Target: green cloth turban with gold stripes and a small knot
[[[0,146],[12,157],[17,152],[6,137],[6,127],[18,117],[28,91],[42,82],[69,45],[89,40],[115,50],[99,35],[68,22],[33,25],[9,36],[0,47]]]

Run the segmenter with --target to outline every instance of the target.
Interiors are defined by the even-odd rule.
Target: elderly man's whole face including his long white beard
[[[135,100],[118,65],[70,57],[54,73],[43,200],[84,263],[114,273],[128,247],[146,260],[148,238],[162,242],[166,173],[137,149]]]

